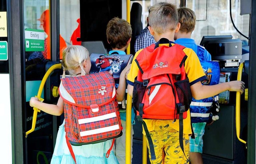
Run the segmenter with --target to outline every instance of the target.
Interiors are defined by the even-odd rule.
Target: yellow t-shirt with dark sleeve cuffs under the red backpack
[[[171,42],[172,45],[175,43]],[[168,46],[169,44],[160,44],[159,46],[166,45]],[[138,54],[142,51],[140,49],[137,51],[137,53],[134,56],[134,59],[132,61],[131,69],[130,72],[127,75],[127,80],[128,84],[132,85],[134,84],[134,79],[138,75],[139,68],[134,61]],[[193,84],[206,79],[206,76],[204,74],[204,70],[202,69],[202,66],[200,64],[200,61],[196,55],[196,53],[190,49],[190,48],[185,48],[183,49],[184,53],[187,55],[187,59],[185,61],[185,66],[184,69],[186,71],[186,74],[188,76],[190,86]],[[191,123],[190,123],[190,111],[188,110],[187,112],[187,118],[183,120],[183,133],[184,134],[191,134]],[[174,120],[158,120],[158,119],[143,119],[148,127],[148,131],[153,131],[155,125],[167,125],[169,124],[170,127],[175,129],[176,131],[179,131],[179,120],[177,119],[175,122]],[[143,129],[143,134],[145,134],[144,129]]]

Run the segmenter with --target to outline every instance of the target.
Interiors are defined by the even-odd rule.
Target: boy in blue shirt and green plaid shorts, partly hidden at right
[[[175,43],[193,49],[200,61],[211,61],[210,53],[208,53],[204,47],[197,45],[194,39],[191,39],[191,34],[196,25],[196,14],[194,11],[186,7],[178,8],[178,20],[180,23],[180,30],[174,35]],[[190,108],[192,108],[192,106],[190,106]],[[191,139],[190,137],[189,156],[191,164],[203,164],[201,154],[203,147],[202,137],[204,135],[205,125],[206,122],[192,123],[195,139]]]

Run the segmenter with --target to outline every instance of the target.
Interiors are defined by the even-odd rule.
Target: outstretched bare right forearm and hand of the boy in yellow
[[[214,95],[217,95],[225,90],[241,92],[243,94],[245,86],[244,82],[242,81],[231,81],[231,82],[224,82],[212,86],[202,85],[201,82],[197,82],[190,86],[192,96],[196,100],[201,100],[204,98],[209,98]]]

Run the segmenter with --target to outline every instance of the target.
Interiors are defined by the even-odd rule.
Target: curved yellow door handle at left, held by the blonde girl
[[[41,95],[42,95],[42,91],[44,89],[44,84],[48,78],[48,76],[50,75],[50,73],[52,73],[53,70],[55,69],[61,69],[61,64],[54,64],[52,65],[45,73],[44,78],[42,79],[42,82],[39,86],[38,89],[38,93],[37,93],[37,98],[42,101]],[[26,137],[28,137],[28,134],[33,132],[35,130],[36,127],[36,117],[37,117],[37,112],[40,112],[40,109],[37,109],[36,107],[33,107],[34,109],[34,113],[33,113],[33,119],[32,119],[32,128],[26,132]]]

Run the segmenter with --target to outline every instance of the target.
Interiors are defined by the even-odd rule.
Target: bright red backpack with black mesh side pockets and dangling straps
[[[168,43],[169,46],[159,46]],[[183,119],[192,100],[189,80],[184,70],[186,54],[185,47],[171,45],[168,39],[162,38],[156,43],[143,49],[136,57],[139,72],[134,81],[132,103],[137,110],[138,121],[148,138],[151,158],[154,160],[152,139],[142,119],[173,119],[179,120],[180,146],[183,149]]]

